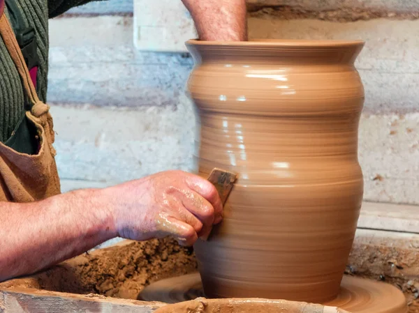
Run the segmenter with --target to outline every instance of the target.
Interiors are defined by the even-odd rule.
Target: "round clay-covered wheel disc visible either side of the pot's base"
[[[199,273],[159,280],[146,287],[138,298],[146,301],[179,303],[203,297]],[[344,276],[335,300],[322,303],[352,313],[405,313],[406,298],[390,284]]]

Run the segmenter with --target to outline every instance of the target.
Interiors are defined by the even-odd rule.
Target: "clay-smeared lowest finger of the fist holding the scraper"
[[[179,245],[193,245],[198,239],[195,229],[190,224],[177,220],[175,217],[160,215],[162,223],[159,224],[159,233],[161,237],[172,236]]]

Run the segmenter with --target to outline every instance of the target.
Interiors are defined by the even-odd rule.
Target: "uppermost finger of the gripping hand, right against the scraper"
[[[223,219],[223,204],[221,204],[221,199],[218,191],[212,183],[206,179],[191,174],[186,178],[186,184],[191,190],[198,192],[201,197],[204,197],[207,201],[210,202],[214,208],[214,221],[213,224],[218,224]],[[204,223],[205,225],[205,223]]]

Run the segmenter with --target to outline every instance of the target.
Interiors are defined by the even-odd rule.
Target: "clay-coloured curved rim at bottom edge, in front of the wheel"
[[[156,313],[349,313],[338,307],[286,300],[214,299],[196,300],[166,305]]]

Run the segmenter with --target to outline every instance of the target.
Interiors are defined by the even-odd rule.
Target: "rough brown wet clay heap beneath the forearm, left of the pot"
[[[190,248],[176,241],[129,242],[96,250],[65,261],[28,278],[10,280],[0,287],[26,287],[69,293],[99,293],[115,298],[137,299],[152,282],[196,271]]]

